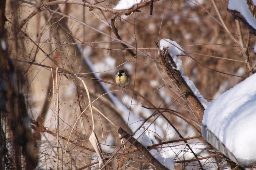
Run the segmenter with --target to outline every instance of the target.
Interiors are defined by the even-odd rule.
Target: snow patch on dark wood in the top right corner
[[[255,4],[256,0],[253,1]],[[246,0],[229,0],[228,9],[240,12],[247,22],[256,29],[256,19],[252,16]]]

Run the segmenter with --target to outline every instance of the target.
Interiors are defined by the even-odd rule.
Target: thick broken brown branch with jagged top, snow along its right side
[[[160,62],[164,65],[165,72],[172,80],[173,84],[179,89],[181,94],[185,94],[184,98],[192,106],[196,113],[196,118],[199,122],[202,120],[202,115],[204,114],[204,107],[207,107],[208,102],[205,100],[205,106],[199,101],[199,98],[195,95],[201,97],[198,89],[195,87],[194,83],[191,81],[185,81],[182,68],[182,61],[177,58],[177,56],[182,55],[183,49],[175,41],[169,39],[162,39],[160,41],[159,47],[159,58]],[[187,80],[187,78],[185,78]],[[187,83],[188,82],[188,83]],[[189,85],[190,86],[189,86]],[[193,91],[194,90],[194,91]]]

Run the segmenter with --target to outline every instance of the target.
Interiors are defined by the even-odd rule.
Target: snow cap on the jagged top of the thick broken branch
[[[182,68],[182,61],[180,59],[178,59],[177,56],[179,55],[184,55],[183,53],[183,49],[182,47],[175,41],[172,41],[170,39],[162,39],[160,41],[160,50],[163,50],[164,47],[169,47],[168,49],[168,53],[170,54],[170,56],[173,58],[173,61],[175,62],[177,69],[180,74],[183,74],[183,68]],[[173,66],[173,69],[175,69],[175,67]]]

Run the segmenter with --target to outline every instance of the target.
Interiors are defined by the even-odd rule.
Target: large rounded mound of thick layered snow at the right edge
[[[214,133],[241,166],[256,163],[256,74],[208,105],[202,124]]]

